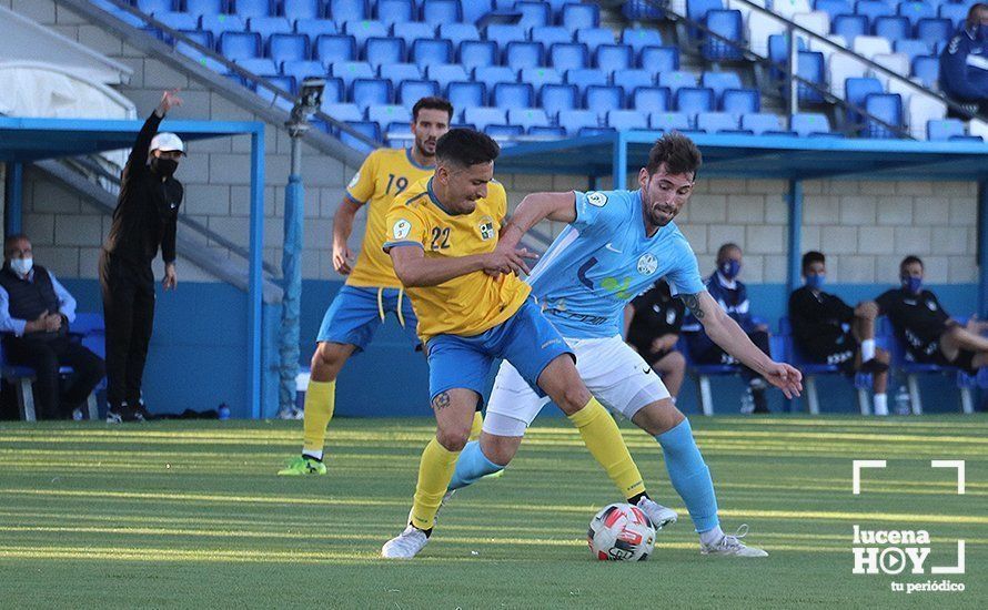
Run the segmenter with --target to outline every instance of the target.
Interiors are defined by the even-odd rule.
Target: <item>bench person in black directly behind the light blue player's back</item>
[[[624,334],[628,345],[662,377],[673,403],[679,395],[686,373],[686,358],[676,352],[685,314],[686,305],[673,298],[665,279],[656,282],[624,308]]]

